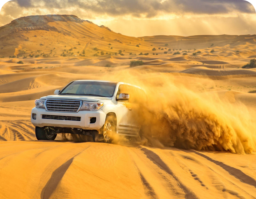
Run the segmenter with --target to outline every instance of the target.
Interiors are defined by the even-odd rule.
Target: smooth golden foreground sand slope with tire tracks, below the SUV
[[[253,199],[256,156],[103,143],[3,142],[1,198]]]

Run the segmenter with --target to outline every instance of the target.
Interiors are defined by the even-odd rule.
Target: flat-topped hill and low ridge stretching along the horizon
[[[212,45],[213,44],[213,45]],[[0,57],[153,53],[153,47],[188,50],[255,45],[256,35],[152,36],[134,38],[115,33],[74,15],[36,15],[0,27]]]

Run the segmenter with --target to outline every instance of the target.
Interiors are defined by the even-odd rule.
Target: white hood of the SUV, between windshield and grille
[[[111,100],[111,97],[82,96],[82,95],[48,95],[41,97],[41,100],[59,99],[59,100],[83,100],[88,102],[98,102],[98,100]]]

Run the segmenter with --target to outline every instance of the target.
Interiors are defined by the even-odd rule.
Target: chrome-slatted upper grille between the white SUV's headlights
[[[46,100],[46,110],[59,112],[78,112],[82,102],[80,100]]]

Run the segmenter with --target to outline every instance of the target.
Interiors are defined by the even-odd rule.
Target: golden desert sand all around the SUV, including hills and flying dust
[[[133,38],[32,16],[0,27],[0,57],[1,199],[255,199],[256,69],[241,67],[256,35]],[[37,141],[34,100],[81,79],[143,87],[153,137]]]

